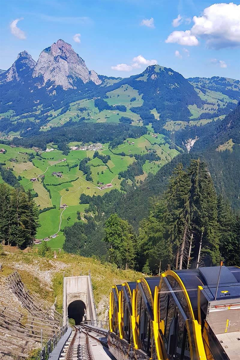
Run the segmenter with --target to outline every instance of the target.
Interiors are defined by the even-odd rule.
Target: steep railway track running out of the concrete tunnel
[[[94,350],[93,346],[96,347]],[[104,359],[111,359],[105,351],[101,355],[103,346],[108,347],[107,336],[102,332],[84,325],[74,326],[74,334],[65,343],[59,360],[98,360],[103,359],[103,356]]]

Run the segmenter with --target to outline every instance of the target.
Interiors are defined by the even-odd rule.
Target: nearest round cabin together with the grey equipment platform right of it
[[[222,266],[217,289],[219,270],[201,267],[161,275],[154,296],[157,359],[237,359],[240,268]]]

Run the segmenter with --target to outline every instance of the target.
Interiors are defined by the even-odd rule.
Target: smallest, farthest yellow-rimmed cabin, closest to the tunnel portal
[[[119,292],[121,290],[122,285],[114,285],[110,292],[109,328],[116,335],[119,335]]]

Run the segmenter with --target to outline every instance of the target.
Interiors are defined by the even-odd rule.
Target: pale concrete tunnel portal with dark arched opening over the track
[[[90,275],[64,276],[63,325],[74,319],[78,325],[83,320],[96,320]]]

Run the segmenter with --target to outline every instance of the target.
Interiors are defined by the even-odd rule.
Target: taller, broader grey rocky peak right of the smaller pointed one
[[[64,90],[76,89],[74,82],[79,79],[84,84],[89,81],[101,84],[98,75],[94,71],[90,72],[85,61],[62,39],[41,52],[33,71],[33,77],[38,76],[43,78],[40,86],[53,81],[55,86],[60,85]]]

